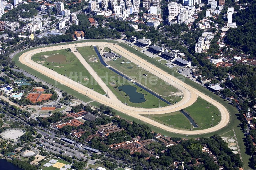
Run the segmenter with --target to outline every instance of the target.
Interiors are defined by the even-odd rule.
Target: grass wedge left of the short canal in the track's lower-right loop
[[[143,116],[148,117],[146,114]],[[150,115],[150,119],[176,129],[190,130],[191,127],[189,120],[180,111]]]

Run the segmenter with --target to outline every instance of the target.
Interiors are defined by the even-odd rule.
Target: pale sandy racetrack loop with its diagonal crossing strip
[[[131,106],[125,105],[116,97],[116,95],[109,89],[109,87],[103,82],[103,80],[97,75],[97,73],[88,65],[88,63],[85,62],[85,60],[81,57],[81,54],[76,51],[76,48],[85,47],[85,46],[101,46],[102,49],[104,47],[110,48],[112,51],[117,52],[118,54],[124,56],[131,62],[135,63],[136,65],[142,67],[148,72],[151,72],[155,76],[159,77],[160,79],[166,81],[167,83],[171,84],[175,88],[179,89],[183,93],[182,100],[176,104],[169,105],[166,107],[159,107],[159,108],[137,108],[137,107],[131,107]],[[31,59],[31,57],[37,53],[41,53],[44,51],[61,50],[65,48],[71,48],[72,52],[76,55],[76,57],[80,60],[80,62],[86,67],[86,69],[93,76],[93,78],[99,83],[101,88],[105,92],[108,91],[108,96],[104,96],[94,91],[91,88],[88,88],[76,81],[69,79],[64,75],[58,74],[54,70],[46,68],[45,66],[41,65],[40,63],[34,62]],[[186,135],[211,133],[211,132],[218,131],[224,128],[225,126],[227,126],[230,120],[230,114],[227,108],[224,105],[222,105],[220,102],[216,100],[212,100],[211,97],[191,87],[190,85],[186,84],[185,81],[182,81],[179,78],[176,78],[173,75],[168,74],[167,72],[163,71],[162,69],[158,68],[155,65],[152,65],[151,63],[135,55],[134,53],[126,50],[125,48],[123,48],[118,44],[114,45],[113,43],[110,43],[110,42],[81,42],[81,43],[69,44],[68,47],[67,45],[57,45],[57,46],[49,46],[49,47],[42,46],[41,48],[36,48],[35,50],[24,51],[23,53],[21,53],[21,55],[19,56],[19,62],[30,67],[33,70],[36,70],[44,74],[44,76],[54,79],[56,83],[61,83],[67,87],[71,87],[73,90],[77,91],[78,93],[87,95],[89,98],[99,103],[110,106],[115,110],[118,110],[122,113],[135,117],[139,120],[142,120],[144,122],[147,122],[151,125],[154,125],[158,128],[164,129],[169,132],[186,134]],[[162,123],[156,122],[148,117],[141,115],[141,114],[156,115],[156,114],[165,114],[165,113],[179,111],[183,108],[191,106],[193,103],[197,101],[198,97],[206,100],[209,103],[212,102],[212,105],[220,109],[221,120],[217,125],[207,129],[203,129],[203,130],[193,130],[193,131],[180,130],[180,129],[175,129],[175,128],[166,126]]]

